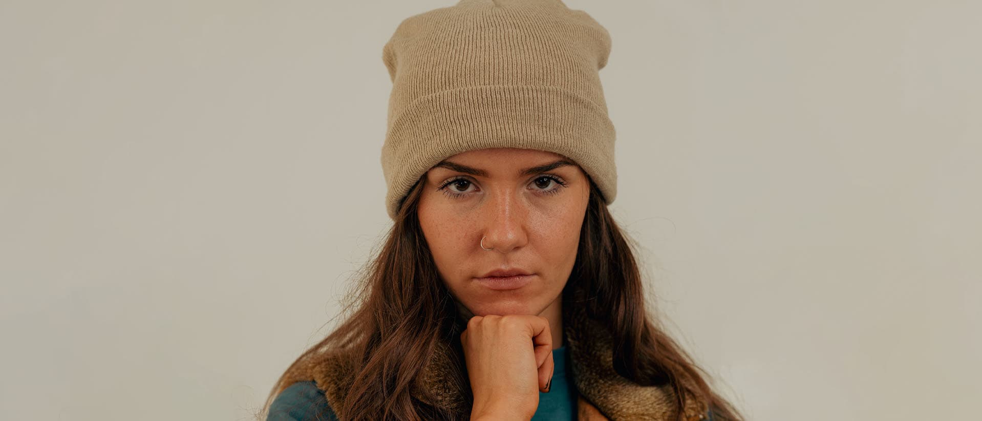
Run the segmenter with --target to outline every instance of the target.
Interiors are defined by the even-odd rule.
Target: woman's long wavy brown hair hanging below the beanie
[[[587,180],[589,203],[573,272],[563,294],[591,292],[592,299],[586,300],[587,314],[605,322],[613,334],[614,369],[642,386],[670,385],[678,397],[679,421],[684,415],[683,392],[708,402],[714,420],[741,420],[736,408],[708,386],[705,371],[651,321],[632,250],[636,245],[615,223],[596,184],[588,176]],[[343,409],[338,412],[345,418],[452,419],[449,411],[409,395],[413,380],[440,341],[453,342],[451,348],[460,358],[459,369],[443,380],[470,391],[456,328],[459,323],[455,323],[458,309],[439,277],[416,215],[424,184],[425,175],[401,202],[381,249],[373,250],[375,257],[360,271],[355,300],[343,310],[348,313],[354,308],[354,314],[290,365],[267,397],[261,417],[273,399],[297,381],[300,367],[316,364],[332,349],[347,348],[355,349],[355,355],[364,355],[364,359],[345,401],[331,402],[332,407]],[[473,396],[467,398],[472,400]]]

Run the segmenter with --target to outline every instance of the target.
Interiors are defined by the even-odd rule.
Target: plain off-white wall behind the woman
[[[388,229],[403,19],[455,1],[0,2],[4,419],[246,420]],[[573,1],[610,209],[749,419],[968,419],[982,3]]]

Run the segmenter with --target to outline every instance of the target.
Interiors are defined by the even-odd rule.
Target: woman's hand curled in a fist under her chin
[[[473,316],[461,343],[474,395],[471,417],[531,419],[539,392],[549,392],[555,370],[549,320],[526,314]]]

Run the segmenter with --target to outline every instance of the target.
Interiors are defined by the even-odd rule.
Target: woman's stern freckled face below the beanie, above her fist
[[[561,304],[590,191],[572,160],[533,149],[471,150],[431,168],[424,183],[419,224],[460,304],[479,316],[538,315]],[[481,248],[481,237],[493,249]],[[499,269],[532,276],[504,287],[514,289],[475,279]]]

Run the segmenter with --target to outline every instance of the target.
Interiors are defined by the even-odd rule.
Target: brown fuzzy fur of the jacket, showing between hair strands
[[[566,303],[564,303],[566,304]],[[573,380],[577,396],[577,420],[675,420],[675,393],[671,387],[642,387],[614,371],[612,339],[599,322],[589,319],[581,305],[564,305],[564,333],[569,347]],[[465,321],[458,317],[457,329],[463,332]],[[430,405],[449,408],[457,419],[468,420],[470,407],[467,391],[446,381],[458,364],[452,360],[448,343],[440,343],[434,357],[423,368],[410,388],[410,395]],[[330,402],[342,402],[357,373],[355,355],[335,352],[329,358],[301,365],[290,376],[291,382],[316,382]],[[467,385],[468,386],[468,385]],[[427,396],[434,396],[432,399]],[[709,408],[705,402],[686,396],[685,417],[689,421],[705,420]],[[332,407],[339,419],[346,419],[341,405]]]

